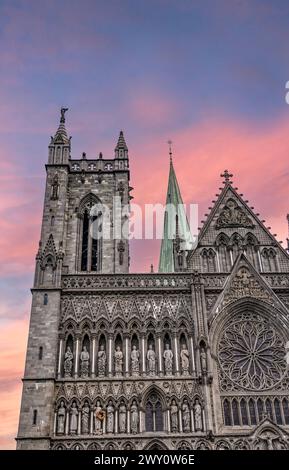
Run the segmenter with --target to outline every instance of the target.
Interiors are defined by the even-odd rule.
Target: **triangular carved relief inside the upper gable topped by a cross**
[[[247,216],[244,209],[239,207],[236,201],[234,201],[234,199],[228,199],[216,223],[217,229],[220,229],[222,227],[253,228],[254,224]]]

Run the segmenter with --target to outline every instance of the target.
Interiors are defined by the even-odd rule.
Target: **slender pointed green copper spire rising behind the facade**
[[[176,238],[176,236],[180,238],[183,249],[190,249],[192,246],[192,241],[193,241],[191,232],[190,232],[188,219],[187,219],[186,212],[185,212],[185,208],[183,205],[180,188],[178,185],[177,177],[176,177],[174,166],[173,166],[170,141],[169,141],[169,145],[170,145],[170,172],[169,172],[167,199],[166,199],[167,210],[165,212],[165,217],[164,217],[164,231],[163,231],[163,238],[162,238],[162,244],[161,244],[160,261],[159,261],[160,273],[174,272],[173,241]]]

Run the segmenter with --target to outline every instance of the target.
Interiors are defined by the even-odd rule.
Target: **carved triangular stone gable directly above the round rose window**
[[[231,274],[225,283],[215,306],[210,314],[212,319],[227,305],[245,297],[262,300],[275,308],[278,308],[285,317],[288,311],[283,302],[273,292],[271,287],[255,270],[244,254],[239,255],[233,266]]]

